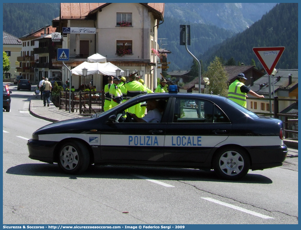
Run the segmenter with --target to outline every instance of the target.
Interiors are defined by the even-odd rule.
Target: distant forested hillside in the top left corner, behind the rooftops
[[[3,3],[3,31],[21,37],[60,16],[60,3]]]

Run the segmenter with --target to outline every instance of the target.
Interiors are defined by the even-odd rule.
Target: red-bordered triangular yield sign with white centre
[[[253,51],[268,75],[271,75],[281,57],[284,47],[254,47]]]

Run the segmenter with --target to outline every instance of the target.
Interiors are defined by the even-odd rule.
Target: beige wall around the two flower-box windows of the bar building
[[[116,26],[117,13],[132,13],[132,26]],[[119,58],[116,54],[117,40],[131,40],[132,54],[122,59],[150,59],[151,40],[154,41],[155,20],[147,8],[139,3],[110,4],[98,12],[96,26],[96,50],[107,58]],[[157,27],[155,28],[157,41]]]

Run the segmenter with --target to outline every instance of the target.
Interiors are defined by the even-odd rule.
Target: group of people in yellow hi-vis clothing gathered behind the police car
[[[164,78],[160,79],[160,84],[156,88],[155,92],[165,92],[164,86],[166,85],[166,80]],[[136,95],[143,93],[153,93],[145,84],[144,80],[138,76],[138,73],[132,73],[129,75],[129,81],[126,82],[124,76],[109,76],[108,84],[104,86],[105,101],[104,101],[104,111],[115,107],[124,101],[135,97]],[[140,104],[132,106],[127,112],[135,114],[137,117],[143,117],[145,114],[145,107],[141,107]]]

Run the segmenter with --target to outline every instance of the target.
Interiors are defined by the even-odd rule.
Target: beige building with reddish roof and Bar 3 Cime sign
[[[64,61],[69,69],[98,53],[121,70],[143,70],[142,79],[154,89],[157,56],[151,50],[158,49],[157,30],[163,15],[164,3],[61,3],[60,17],[52,26],[63,36],[61,48],[70,51],[69,61]],[[69,79],[62,61],[52,63],[62,68],[63,81]],[[98,90],[107,84],[107,77],[89,77]],[[72,76],[76,88],[82,83],[81,76]]]

